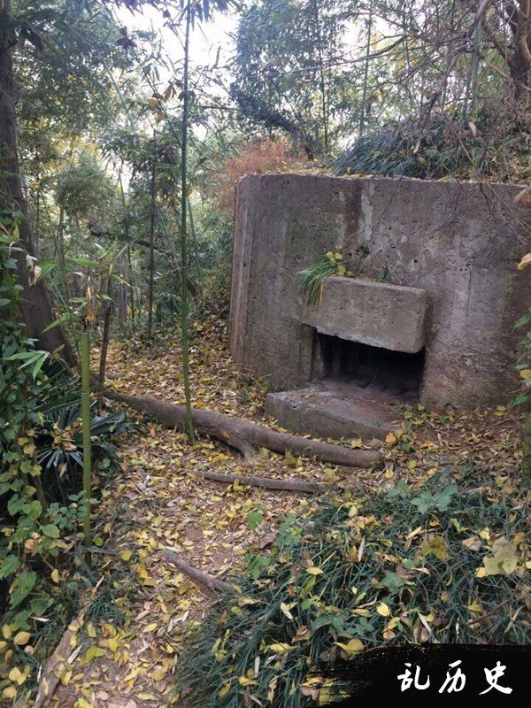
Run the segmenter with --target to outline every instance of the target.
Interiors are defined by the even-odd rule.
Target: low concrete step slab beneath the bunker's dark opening
[[[402,418],[397,407],[412,403],[412,396],[365,382],[325,379],[304,389],[268,394],[266,415],[296,433],[368,440],[396,430]]]

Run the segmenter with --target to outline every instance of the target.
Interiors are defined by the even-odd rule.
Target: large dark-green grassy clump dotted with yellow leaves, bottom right
[[[469,469],[287,519],[238,595],[191,630],[178,689],[190,705],[298,708],[323,702],[305,681],[340,655],[528,643],[526,509]]]

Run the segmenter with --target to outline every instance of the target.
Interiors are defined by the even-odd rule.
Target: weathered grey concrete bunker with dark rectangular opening
[[[519,188],[318,175],[238,183],[231,351],[277,389],[266,414],[329,437],[381,436],[417,401],[498,404],[517,387],[514,322],[531,305]],[[356,277],[304,268],[342,244]],[[388,273],[382,281],[381,273]],[[516,276],[516,277],[515,277]]]

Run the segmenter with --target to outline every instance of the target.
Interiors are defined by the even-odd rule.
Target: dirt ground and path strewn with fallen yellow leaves
[[[193,405],[260,420],[266,389],[242,373],[227,352],[226,326],[216,315],[195,328],[191,348]],[[133,394],[183,403],[177,332],[148,346],[111,347],[108,382]],[[381,444],[383,464],[360,472],[284,458],[261,450],[252,466],[265,476],[297,477],[331,485],[342,498],[434,474],[441,466],[473,460],[491,474],[493,487],[512,494],[520,465],[519,419],[503,406],[456,414],[419,410],[402,416],[398,435]],[[358,446],[359,441],[350,441]],[[183,633],[201,620],[211,597],[177,572],[159,550],[171,547],[191,565],[223,577],[243,567],[247,552],[273,543],[281,519],[315,511],[319,496],[200,481],[189,470],[248,473],[219,443],[200,439],[191,448],[181,433],[147,421],[144,434],[120,446],[121,470],[100,489],[95,514],[98,587],[70,654],[58,673],[51,704],[135,708],[183,704],[173,688]],[[332,489],[333,486],[333,489]],[[64,570],[61,582],[67,580]]]

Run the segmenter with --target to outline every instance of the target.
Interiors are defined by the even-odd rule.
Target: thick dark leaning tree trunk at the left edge
[[[14,106],[16,104],[13,78],[12,49],[16,37],[6,26],[11,19],[11,0],[4,0],[4,12],[0,13],[0,205],[13,214],[19,223],[19,246],[25,252],[15,252],[19,284],[22,286],[20,310],[26,325],[27,335],[37,340],[36,346],[43,350],[56,351],[67,364],[75,366],[76,360],[70,343],[60,327],[43,329],[56,319],[50,293],[43,281],[31,284],[26,254],[35,257],[35,244],[29,223],[27,203],[20,181],[17,154],[17,133]]]

